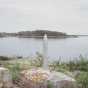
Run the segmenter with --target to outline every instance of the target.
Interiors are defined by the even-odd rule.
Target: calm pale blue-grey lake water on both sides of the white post
[[[33,38],[0,38],[0,55],[35,56],[43,52],[43,40]],[[48,39],[48,57],[50,60],[69,60],[82,54],[88,57],[88,37]]]

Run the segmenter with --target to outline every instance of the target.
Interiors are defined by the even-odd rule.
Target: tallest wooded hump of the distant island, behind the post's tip
[[[36,31],[22,31],[18,32],[19,37],[43,37],[44,34],[47,34],[48,37],[65,37],[66,33],[56,32],[56,31],[46,31],[46,30],[36,30]]]

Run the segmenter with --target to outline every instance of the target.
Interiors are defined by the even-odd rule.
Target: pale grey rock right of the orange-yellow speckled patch
[[[52,72],[50,79],[53,88],[77,88],[76,81],[61,72]]]

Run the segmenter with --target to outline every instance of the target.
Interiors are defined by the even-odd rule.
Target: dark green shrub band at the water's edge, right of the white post
[[[71,72],[75,70],[88,72],[88,59],[80,56],[78,59],[75,58],[75,60],[69,62],[60,63],[60,61],[57,61],[53,63],[53,67],[55,69],[62,68]]]

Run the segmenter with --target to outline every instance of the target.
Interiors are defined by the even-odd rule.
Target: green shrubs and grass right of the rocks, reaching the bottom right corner
[[[67,63],[56,61],[52,67],[53,70],[73,76],[77,80],[78,88],[88,88],[88,58],[80,55],[78,59]]]

